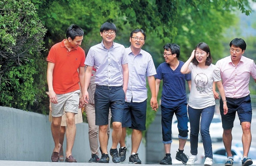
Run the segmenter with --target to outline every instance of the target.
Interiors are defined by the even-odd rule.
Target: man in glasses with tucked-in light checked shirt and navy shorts
[[[117,28],[111,22],[105,22],[100,27],[102,42],[89,49],[85,65],[85,94],[84,100],[88,103],[88,86],[93,66],[95,75],[95,123],[99,126],[99,142],[102,156],[98,162],[109,163],[108,155],[108,114],[112,114],[112,147],[109,151],[112,161],[120,162],[117,144],[122,135],[122,116],[124,99],[128,84],[128,60],[124,53],[124,46],[113,42]]]

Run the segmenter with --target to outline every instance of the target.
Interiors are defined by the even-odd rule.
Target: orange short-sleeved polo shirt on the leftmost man
[[[54,63],[52,85],[56,94],[65,94],[80,89],[78,68],[85,66],[85,51],[78,47],[69,51],[62,40],[52,46],[47,61]]]

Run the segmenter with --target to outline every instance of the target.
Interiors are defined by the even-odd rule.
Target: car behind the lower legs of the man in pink
[[[231,153],[234,158],[234,164],[241,164],[243,159],[243,146],[232,146]],[[256,165],[256,148],[250,147],[248,157],[252,159],[252,165]],[[202,161],[204,161],[204,154],[202,154],[201,158]],[[227,153],[224,146],[213,151],[213,164],[224,164],[226,159]]]

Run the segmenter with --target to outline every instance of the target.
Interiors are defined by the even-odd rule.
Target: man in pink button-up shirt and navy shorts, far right
[[[252,135],[250,124],[252,121],[252,104],[250,100],[250,75],[256,82],[256,65],[254,60],[244,57],[246,43],[242,38],[234,38],[230,42],[230,56],[218,60],[216,66],[221,69],[221,79],[226,94],[226,100],[220,99],[220,113],[223,126],[223,143],[227,152],[225,166],[232,166],[234,159],[231,153],[232,128],[236,112],[243,130],[243,160],[242,166],[252,164],[248,158]],[[213,87],[215,99],[218,93]],[[223,102],[227,103],[228,112],[223,111]]]

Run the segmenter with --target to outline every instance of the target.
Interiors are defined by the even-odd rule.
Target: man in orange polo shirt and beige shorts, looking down
[[[72,24],[66,31],[67,39],[52,46],[47,57],[47,83],[52,106],[52,137],[54,150],[52,162],[59,161],[59,143],[61,116],[66,112],[66,162],[76,162],[72,156],[72,148],[76,136],[75,114],[83,107],[84,101],[79,100],[80,89],[84,89],[85,51],[80,47],[83,30]],[[80,83],[80,86],[79,86]],[[83,98],[82,98],[83,99]]]

